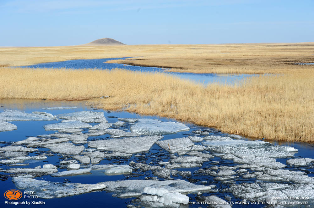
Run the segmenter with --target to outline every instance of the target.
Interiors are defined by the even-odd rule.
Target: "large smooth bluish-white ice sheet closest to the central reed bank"
[[[179,122],[162,122],[157,119],[138,119],[130,128],[132,133],[138,135],[176,134],[179,131],[188,131],[189,127]]]

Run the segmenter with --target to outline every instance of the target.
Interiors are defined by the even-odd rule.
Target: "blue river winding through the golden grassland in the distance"
[[[126,57],[128,58],[128,57]],[[141,72],[162,72],[171,74],[181,79],[188,79],[195,82],[200,82],[203,84],[218,82],[220,84],[233,84],[237,81],[245,79],[247,77],[258,76],[258,74],[194,74],[194,73],[178,73],[178,72],[166,72],[162,68],[156,67],[143,67],[143,66],[131,66],[121,63],[104,63],[112,59],[122,59],[122,58],[100,58],[100,59],[79,59],[79,60],[69,60],[61,62],[49,62],[49,63],[39,63],[30,66],[30,68],[101,68],[101,69],[113,69],[113,68],[123,68],[131,71],[141,71]]]

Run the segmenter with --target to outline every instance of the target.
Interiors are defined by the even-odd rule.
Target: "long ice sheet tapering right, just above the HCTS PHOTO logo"
[[[17,188],[34,191],[35,195],[44,199],[84,194],[106,188],[106,185],[102,184],[59,183],[22,177],[13,177],[12,181]]]

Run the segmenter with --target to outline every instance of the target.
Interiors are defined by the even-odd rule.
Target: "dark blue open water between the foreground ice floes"
[[[78,106],[76,109],[61,109],[61,110],[43,110],[42,108],[45,107],[60,107],[60,106]],[[69,113],[69,112],[75,112],[75,111],[82,111],[82,110],[89,110],[89,111],[103,111],[104,115],[106,116],[107,120],[109,122],[116,122],[117,118],[110,118],[108,116],[116,116],[116,117],[127,117],[127,118],[156,118],[160,119],[162,121],[176,121],[175,119],[169,119],[165,117],[159,117],[159,116],[145,116],[140,114],[134,114],[134,113],[128,113],[128,112],[106,112],[106,110],[100,110],[95,109],[92,106],[84,105],[84,101],[48,101],[48,100],[25,100],[25,99],[7,99],[7,100],[0,100],[0,112],[4,109],[14,109],[14,110],[23,110],[27,113],[31,113],[32,111],[45,111],[48,113],[51,113],[53,115],[61,114],[61,113]],[[18,129],[13,131],[7,131],[7,132],[0,132],[0,141],[6,141],[5,144],[0,144],[1,146],[8,145],[12,141],[19,141],[24,140],[28,136],[36,136],[39,134],[51,134],[55,131],[45,131],[43,128],[43,125],[50,124],[50,123],[56,123],[60,121],[15,121],[11,122],[15,124]],[[171,138],[180,138],[180,137],[186,137],[188,134],[191,133],[192,130],[195,129],[209,129],[207,127],[198,126],[192,123],[185,123],[187,126],[190,127],[190,131],[188,132],[179,132],[177,134],[171,134],[171,135],[164,135],[164,139],[171,139]],[[125,127],[129,128],[129,126]],[[122,127],[124,129],[124,127]],[[223,132],[220,132],[216,129],[209,129],[211,131],[210,134],[212,135],[227,135]],[[97,137],[89,137],[88,140],[91,139],[103,139],[109,137],[109,135],[101,135]],[[246,138],[249,140],[248,138]],[[277,144],[277,143],[275,143]],[[307,143],[280,143],[279,145],[289,145],[297,148],[299,150],[298,153],[294,155],[294,158],[298,157],[313,157],[313,151],[314,147],[311,144]],[[86,145],[85,145],[86,146]],[[42,151],[47,151],[47,149],[44,148],[38,148]],[[152,148],[148,152],[139,153],[141,155],[145,155],[143,158],[138,158],[132,156],[129,159],[111,159],[111,160],[101,160],[99,164],[129,164],[130,161],[134,162],[143,162],[143,160],[146,162],[146,164],[149,164],[152,162],[151,165],[158,165],[159,161],[168,161],[169,160],[169,154],[165,150],[161,150],[158,145],[153,145]],[[32,156],[32,155],[31,155]],[[281,158],[277,161],[285,163],[285,160],[290,158]],[[29,166],[16,166],[16,167],[35,167],[37,165],[43,165],[43,164],[57,164],[60,160],[62,160],[62,156],[60,154],[53,153],[52,156],[48,156],[46,160],[30,160],[25,161],[25,163],[30,163]],[[224,189],[228,185],[221,183],[220,181],[213,180],[213,176],[210,175],[198,175],[193,174],[195,170],[198,170],[199,168],[208,168],[211,166],[215,166],[210,164],[211,161],[219,161],[219,165],[234,165],[232,164],[232,161],[230,160],[222,160],[219,157],[215,157],[211,159],[208,162],[204,162],[202,167],[197,168],[180,168],[177,170],[188,170],[192,172],[192,177],[188,178],[182,178],[181,176],[174,177],[175,179],[183,179],[183,180],[189,180],[194,179],[196,181],[193,181],[192,183],[201,185],[200,181],[207,180],[208,184],[205,185],[216,185],[217,188],[215,189]],[[11,168],[14,166],[6,166],[6,165],[0,165],[0,168]],[[63,171],[64,169],[58,168],[58,171]],[[304,170],[303,170],[304,171]],[[134,171],[133,171],[134,172]],[[306,169],[306,172],[309,176],[313,175],[313,168]],[[115,176],[108,176],[104,175],[102,171],[100,170],[94,170],[91,171],[91,174],[89,175],[76,175],[76,176],[65,176],[65,177],[51,177],[50,175],[44,175],[41,177],[37,177],[35,179],[37,180],[48,180],[48,181],[56,181],[56,182],[63,182],[64,179],[67,179],[68,182],[71,183],[86,183],[86,184],[95,184],[102,181],[108,181],[108,180],[136,180],[136,179],[145,179],[145,177],[156,177],[153,175],[150,171],[148,172],[138,172],[138,174],[143,175],[115,175]],[[8,176],[8,174],[0,175],[0,193],[4,193],[6,190],[9,189],[16,189],[15,185],[11,181],[11,177]],[[163,179],[160,179],[163,180]],[[242,179],[240,178],[236,179],[236,183],[243,183],[243,182],[254,182],[252,179]],[[24,190],[20,190],[24,191]],[[134,198],[128,198],[128,199],[120,199],[117,197],[112,196],[113,193],[107,193],[106,191],[99,191],[99,192],[92,192],[87,194],[81,194],[81,195],[75,195],[75,196],[68,196],[63,198],[54,198],[54,199],[35,199],[35,201],[44,201],[45,205],[4,205],[4,197],[0,197],[0,207],[47,207],[47,208],[55,208],[55,207],[126,207],[127,204],[136,204],[132,202]],[[203,195],[217,195],[218,197],[224,199],[225,195],[232,196],[231,193],[228,192],[212,192],[212,193],[204,193]],[[196,194],[189,194],[190,202],[197,201]],[[20,200],[19,200],[20,201]],[[26,201],[26,200],[25,200]],[[27,200],[32,201],[32,200]],[[236,199],[232,196],[231,201],[240,201],[240,199]],[[206,205],[193,205],[189,204],[183,207],[206,207]],[[248,207],[247,205],[233,205],[233,208],[244,208]],[[249,205],[249,207],[263,207],[263,205]]]

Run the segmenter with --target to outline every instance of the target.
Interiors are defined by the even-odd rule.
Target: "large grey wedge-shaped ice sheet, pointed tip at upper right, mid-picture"
[[[163,136],[143,136],[124,139],[89,141],[88,146],[91,148],[97,148],[97,150],[107,150],[130,154],[148,151],[157,140],[162,138]]]

